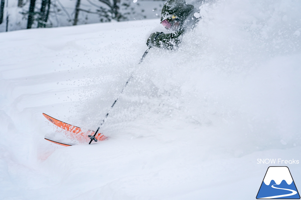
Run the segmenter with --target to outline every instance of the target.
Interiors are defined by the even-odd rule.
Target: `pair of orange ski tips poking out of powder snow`
[[[57,120],[57,119],[54,119],[53,117],[50,117],[49,115],[46,115],[45,113],[43,113],[43,115],[44,115],[44,117],[46,117],[47,120],[49,120],[54,125],[69,131],[67,136],[72,138],[72,139],[76,139],[80,143],[89,142],[90,138],[88,138],[88,135],[94,135],[94,133],[95,133],[95,131],[91,131],[91,130],[85,131],[85,130],[82,130],[82,128],[80,128],[80,127],[64,123],[60,120]],[[100,141],[107,139],[107,137],[102,135],[101,133],[97,133],[95,138],[97,140],[100,140]],[[69,144],[63,144],[61,142],[52,141],[52,140],[49,140],[49,139],[46,139],[46,138],[45,138],[45,140],[53,142],[55,144],[62,145],[62,146],[72,146],[72,145],[69,145]]]

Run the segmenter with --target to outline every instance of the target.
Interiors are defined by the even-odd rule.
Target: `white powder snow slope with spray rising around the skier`
[[[158,20],[1,33],[1,199],[255,199],[257,159],[301,160],[300,8],[205,4],[181,49],[139,66]],[[44,140],[77,142],[43,112],[97,129],[132,71],[108,140]]]

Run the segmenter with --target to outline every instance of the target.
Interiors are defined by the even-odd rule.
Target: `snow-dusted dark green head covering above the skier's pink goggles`
[[[183,24],[193,11],[194,6],[187,4],[185,0],[168,0],[162,8],[161,22],[172,15],[175,15],[178,17],[181,24]]]

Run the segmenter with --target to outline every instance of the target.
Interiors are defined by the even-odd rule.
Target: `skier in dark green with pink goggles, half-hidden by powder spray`
[[[168,0],[161,12],[161,24],[173,33],[154,32],[147,39],[148,47],[173,50],[181,42],[183,33],[191,30],[199,21],[194,17],[196,9],[185,0]]]

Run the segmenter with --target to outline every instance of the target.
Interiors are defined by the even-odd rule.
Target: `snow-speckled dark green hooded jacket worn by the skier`
[[[168,0],[162,8],[161,21],[165,20],[170,14],[176,14],[180,19],[178,31],[174,33],[161,34],[154,41],[153,46],[164,49],[175,49],[181,43],[183,34],[193,29],[198,18],[194,17],[197,10],[193,5],[186,4],[185,0]]]

